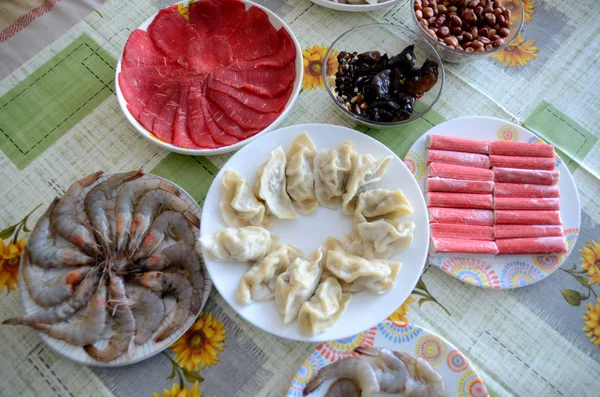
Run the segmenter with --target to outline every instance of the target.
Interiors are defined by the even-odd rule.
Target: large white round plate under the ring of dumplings
[[[419,187],[404,163],[391,150],[375,139],[346,127],[303,124],[273,131],[247,145],[231,157],[215,177],[204,201],[201,236],[216,233],[227,226],[219,210],[223,172],[234,169],[246,178],[251,186],[254,186],[256,171],[270,158],[271,151],[279,145],[287,150],[292,140],[303,131],[308,132],[320,149],[333,149],[341,142],[350,140],[359,153],[370,153],[375,158],[393,156],[384,178],[373,186],[386,189],[401,188],[415,209],[413,215],[403,219],[414,221],[416,224],[414,241],[410,248],[390,258],[402,262],[393,289],[382,295],[366,291],[353,294],[352,301],[341,318],[324,333],[313,337],[298,332],[296,321],[284,325],[283,318],[277,312],[272,300],[247,306],[240,305],[235,298],[235,289],[249,265],[247,263],[217,262],[205,253],[206,267],[215,287],[239,315],[258,328],[274,335],[315,342],[354,335],[392,314],[408,297],[421,275],[427,255],[429,228],[425,201]],[[352,217],[344,215],[341,209],[318,208],[312,214],[299,215],[298,219],[293,221],[274,218],[274,226],[271,231],[280,238],[280,242],[295,244],[304,250],[305,256],[308,256],[317,250],[328,236],[340,238],[343,233],[350,233],[351,229]],[[360,321],[356,319],[360,319]]]

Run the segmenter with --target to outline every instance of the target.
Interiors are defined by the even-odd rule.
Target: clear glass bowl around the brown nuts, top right
[[[496,47],[490,51],[484,52],[464,52],[455,50],[452,47],[448,47],[443,42],[439,42],[433,37],[431,37],[423,26],[417,20],[417,16],[415,15],[415,0],[410,0],[410,15],[414,24],[415,31],[423,37],[427,42],[435,47],[437,52],[440,54],[442,59],[446,62],[450,63],[463,63],[476,61],[478,59],[485,59],[489,57],[491,54],[500,51],[503,48],[506,48],[512,41],[521,33],[521,29],[523,29],[523,21],[525,19],[523,2],[521,0],[505,0],[504,6],[507,7],[511,11],[511,20],[510,20],[510,34],[504,38],[504,44],[500,47]]]

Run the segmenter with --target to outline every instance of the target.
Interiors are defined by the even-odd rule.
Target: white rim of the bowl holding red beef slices
[[[202,0],[200,0],[200,1],[202,1]],[[150,132],[146,128],[144,128],[144,126],[142,124],[140,124],[140,122],[137,121],[135,119],[135,117],[133,117],[131,115],[131,113],[129,112],[129,109],[127,109],[127,101],[125,100],[125,97],[123,97],[123,93],[121,92],[121,87],[119,86],[119,73],[121,72],[121,62],[123,60],[123,53],[121,53],[121,56],[119,57],[119,62],[117,63],[117,68],[115,71],[115,86],[116,86],[117,100],[119,102],[119,106],[121,106],[121,110],[123,111],[123,113],[125,114],[125,117],[127,118],[127,121],[129,121],[129,123],[144,138],[146,138],[149,141],[151,141],[152,143],[162,147],[163,149],[166,149],[166,150],[169,150],[172,152],[177,152],[177,153],[181,153],[181,154],[189,154],[191,156],[211,156],[211,155],[215,155],[215,154],[233,152],[233,151],[240,149],[242,146],[246,145],[248,142],[275,129],[275,127],[277,127],[277,125],[279,125],[283,121],[283,119],[287,116],[287,114],[289,113],[291,108],[294,106],[294,103],[296,102],[296,99],[298,98],[298,94],[300,93],[300,89],[302,88],[302,73],[304,71],[304,66],[302,65],[302,50],[300,48],[300,43],[298,42],[298,39],[296,39],[294,32],[292,32],[292,29],[290,29],[290,27],[281,18],[279,18],[275,13],[273,13],[269,9],[267,9],[259,4],[253,3],[251,1],[247,1],[247,0],[240,0],[240,1],[246,5],[246,10],[249,9],[250,7],[258,7],[261,10],[263,10],[268,15],[269,22],[271,22],[271,25],[273,25],[273,27],[275,29],[279,29],[279,28],[283,27],[285,30],[287,30],[287,32],[290,34],[290,37],[294,41],[294,46],[296,47],[296,60],[295,60],[296,78],[294,80],[294,89],[292,90],[292,95],[290,95],[290,98],[288,99],[288,102],[285,105],[285,108],[283,109],[283,111],[281,112],[279,117],[277,119],[275,119],[275,121],[273,121],[268,127],[263,129],[262,131],[258,132],[257,134],[251,136],[250,138],[247,138],[243,141],[237,142],[233,145],[223,146],[223,147],[219,147],[216,149],[186,149],[186,148],[175,146],[168,142],[162,141],[162,140],[158,139],[152,132]],[[188,0],[180,1],[180,2],[174,3],[174,4],[182,4],[183,6],[187,7]],[[138,27],[138,29],[146,30],[148,28],[148,26],[150,25],[150,23],[152,23],[152,21],[154,20],[154,18],[156,17],[157,14],[158,14],[158,12],[153,14],[144,23],[142,23]]]

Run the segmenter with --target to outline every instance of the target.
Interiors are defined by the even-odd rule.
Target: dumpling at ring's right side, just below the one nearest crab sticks
[[[415,231],[414,222],[379,219],[357,223],[345,236],[343,245],[349,253],[366,259],[388,259],[410,246]]]

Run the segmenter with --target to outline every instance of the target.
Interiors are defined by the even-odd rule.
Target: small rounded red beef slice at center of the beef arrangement
[[[210,73],[218,67],[227,66],[232,59],[231,46],[219,36],[192,40],[185,56],[188,67],[199,73]]]

